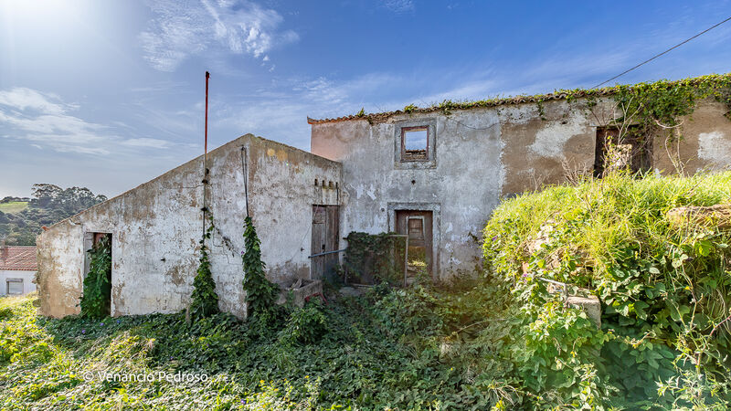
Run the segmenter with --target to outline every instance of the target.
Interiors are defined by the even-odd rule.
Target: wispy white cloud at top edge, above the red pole
[[[299,40],[294,31],[280,30],[284,19],[277,11],[256,3],[165,0],[150,8],[155,18],[140,40],[144,57],[162,71],[174,71],[186,58],[211,49],[269,61],[270,49]]]

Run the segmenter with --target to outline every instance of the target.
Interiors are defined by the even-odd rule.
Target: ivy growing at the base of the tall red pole
[[[200,265],[196,278],[193,279],[193,294],[190,302],[190,318],[194,321],[209,317],[218,312],[218,295],[216,294],[216,282],[211,274],[211,263],[208,260],[208,248],[206,240],[211,237],[213,231],[213,216],[210,217],[210,225],[206,233],[200,239]]]

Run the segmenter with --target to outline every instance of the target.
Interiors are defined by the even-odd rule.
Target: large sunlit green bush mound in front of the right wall
[[[524,346],[516,345],[514,361],[525,386],[535,393],[554,389],[557,401],[586,400],[576,388],[589,373],[602,381],[599,391],[584,390],[594,391],[598,404],[725,409],[731,233],[676,226],[666,214],[729,199],[731,173],[611,174],[500,205],[485,227],[483,250],[524,310],[516,339]],[[543,245],[529,247],[538,237]],[[589,332],[582,314],[564,308],[538,278],[597,295],[601,331]],[[524,369],[529,358],[538,364],[532,370]]]

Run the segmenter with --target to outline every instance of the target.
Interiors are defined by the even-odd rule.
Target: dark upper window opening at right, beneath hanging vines
[[[632,174],[652,170],[652,138],[630,126],[620,135],[616,127],[597,128],[594,176],[601,178],[609,169],[629,169]]]

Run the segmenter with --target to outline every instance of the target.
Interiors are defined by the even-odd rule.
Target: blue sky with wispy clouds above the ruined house
[[[118,195],[306,117],[591,87],[731,16],[731,1],[0,0],[0,197]],[[618,79],[731,71],[731,22]]]

